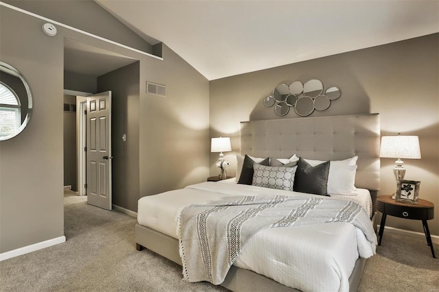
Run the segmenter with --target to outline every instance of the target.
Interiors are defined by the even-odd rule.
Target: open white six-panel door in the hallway
[[[111,210],[111,91],[87,97],[87,203]]]

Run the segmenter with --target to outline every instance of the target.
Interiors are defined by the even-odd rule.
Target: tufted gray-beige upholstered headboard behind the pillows
[[[241,122],[241,154],[316,160],[358,156],[355,186],[379,191],[379,114]]]

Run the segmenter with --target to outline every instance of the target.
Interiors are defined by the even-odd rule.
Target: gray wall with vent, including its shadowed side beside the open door
[[[167,46],[162,53],[97,78],[98,91],[112,90],[113,204],[134,212],[144,195],[209,176],[209,82]],[[147,94],[147,81],[167,96]]]

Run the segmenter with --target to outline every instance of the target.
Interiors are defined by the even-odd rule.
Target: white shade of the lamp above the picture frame
[[[420,159],[418,136],[382,136],[379,157]]]

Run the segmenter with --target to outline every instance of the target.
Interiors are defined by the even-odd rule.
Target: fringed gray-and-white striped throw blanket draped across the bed
[[[284,195],[226,197],[182,209],[179,217],[183,276],[221,284],[252,235],[263,228],[348,222],[377,245],[363,208],[353,202]]]

